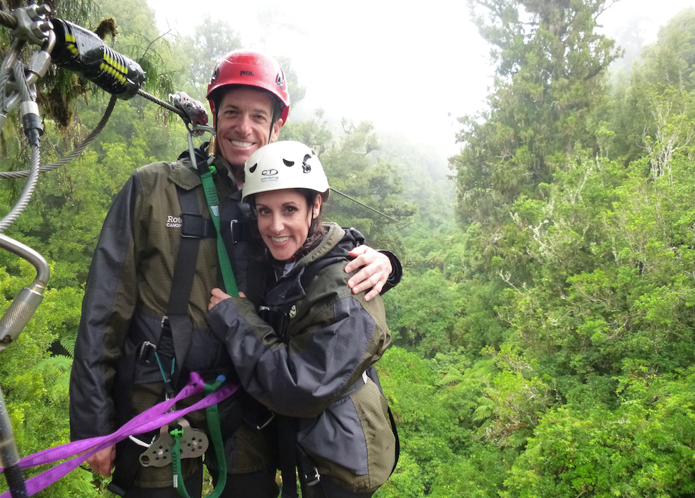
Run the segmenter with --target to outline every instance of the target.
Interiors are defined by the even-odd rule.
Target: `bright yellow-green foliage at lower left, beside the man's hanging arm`
[[[0,309],[35,276],[31,265],[18,265],[20,274],[10,276],[0,268]],[[20,455],[30,455],[69,441],[68,379],[71,359],[50,356],[59,335],[74,337],[82,296],[74,288],[49,289],[43,303],[20,337],[3,351],[0,380],[15,443]],[[47,467],[27,469],[30,477]],[[4,480],[2,486],[5,486]],[[91,473],[77,469],[37,496],[97,496]]]

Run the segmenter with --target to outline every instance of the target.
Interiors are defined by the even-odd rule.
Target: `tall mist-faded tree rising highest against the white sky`
[[[497,62],[489,110],[460,118],[453,156],[466,219],[499,221],[520,196],[539,198],[577,143],[593,145],[587,121],[601,103],[613,41],[594,32],[605,0],[469,0]]]

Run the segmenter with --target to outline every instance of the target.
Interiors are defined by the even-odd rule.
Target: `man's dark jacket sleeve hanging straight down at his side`
[[[138,295],[133,220],[139,193],[136,173],[106,216],[89,268],[70,376],[72,440],[115,429],[112,389]]]

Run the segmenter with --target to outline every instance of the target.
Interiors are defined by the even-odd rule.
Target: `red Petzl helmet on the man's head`
[[[277,97],[282,108],[283,124],[287,122],[290,112],[290,94],[287,91],[287,80],[282,68],[272,57],[255,50],[234,50],[217,62],[210,85],[207,85],[207,100],[210,102],[212,118],[217,124],[217,110],[214,106],[214,94],[228,85],[246,85],[269,91]]]

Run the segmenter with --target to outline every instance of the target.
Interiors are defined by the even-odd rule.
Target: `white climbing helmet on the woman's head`
[[[309,189],[328,198],[328,179],[319,156],[301,142],[273,142],[251,154],[244,165],[242,200],[254,193]]]

